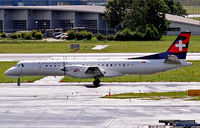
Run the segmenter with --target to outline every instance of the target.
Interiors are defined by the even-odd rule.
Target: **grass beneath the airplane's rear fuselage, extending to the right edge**
[[[102,78],[102,82],[200,82],[200,61],[192,61],[194,65],[180,69],[153,74],[132,75],[113,78]],[[92,82],[94,79],[65,77],[65,82]]]

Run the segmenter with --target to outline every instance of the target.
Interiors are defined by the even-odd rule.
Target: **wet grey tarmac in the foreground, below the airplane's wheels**
[[[16,83],[0,84],[2,128],[136,128],[158,120],[200,122],[200,102],[103,99],[109,92],[163,92],[200,89],[200,83]]]

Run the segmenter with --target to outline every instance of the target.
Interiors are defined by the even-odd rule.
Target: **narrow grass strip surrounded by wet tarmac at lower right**
[[[190,97],[187,92],[150,92],[150,93],[122,93],[106,95],[102,98],[112,99],[130,99],[139,98],[142,100],[162,100],[162,99],[184,99],[184,100],[200,100],[200,96]]]

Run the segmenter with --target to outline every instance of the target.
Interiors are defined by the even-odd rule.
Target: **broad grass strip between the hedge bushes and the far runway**
[[[0,40],[0,53],[74,53],[70,44],[79,43],[77,53],[143,53],[166,51],[177,36],[164,36],[161,41],[23,41]],[[191,37],[189,52],[200,52],[200,36]],[[103,50],[91,50],[95,45],[110,45]]]

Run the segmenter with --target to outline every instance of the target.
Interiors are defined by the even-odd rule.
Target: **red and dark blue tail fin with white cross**
[[[171,47],[167,50],[169,55],[176,55],[178,59],[186,59],[191,32],[181,32]]]

